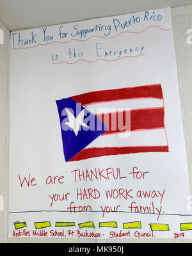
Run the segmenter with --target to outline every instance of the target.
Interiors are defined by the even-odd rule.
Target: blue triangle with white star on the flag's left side
[[[56,100],[60,116],[61,136],[65,161],[108,129],[90,109],[71,98]]]

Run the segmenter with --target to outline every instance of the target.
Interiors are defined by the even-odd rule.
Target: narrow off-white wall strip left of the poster
[[[4,44],[0,44],[0,210],[6,208],[6,161],[8,141],[8,72],[10,61],[10,31],[0,22]],[[4,201],[4,202],[3,202]],[[4,203],[4,204],[3,204]],[[2,205],[3,204],[3,205]],[[5,212],[0,211],[0,243],[5,239]]]

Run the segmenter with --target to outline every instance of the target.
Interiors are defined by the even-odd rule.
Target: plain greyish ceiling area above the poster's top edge
[[[0,0],[0,17],[8,29],[20,30],[188,4],[191,0]]]

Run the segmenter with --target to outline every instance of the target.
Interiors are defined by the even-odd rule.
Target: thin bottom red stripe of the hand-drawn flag
[[[79,161],[92,157],[124,155],[133,153],[146,152],[169,152],[168,146],[145,146],[145,147],[99,147],[99,148],[84,148],[76,156],[69,161]]]

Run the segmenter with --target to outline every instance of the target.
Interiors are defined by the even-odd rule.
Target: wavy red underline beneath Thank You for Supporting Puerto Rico
[[[90,38],[87,38],[87,39],[84,39],[84,40],[83,40],[83,39],[80,40],[80,39],[73,39],[73,38],[72,38],[72,39],[68,40],[67,42],[52,41],[52,42],[45,43],[45,44],[36,44],[36,45],[34,45],[34,46],[19,47],[19,48],[13,47],[12,50],[33,49],[33,48],[35,48],[35,47],[38,46],[38,45],[42,45],[42,46],[43,46],[43,45],[49,45],[49,44],[53,44],[53,43],[68,44],[68,43],[71,42],[71,41],[85,42],[85,41],[90,40],[90,39],[93,38],[93,37],[99,37],[99,38],[104,38],[104,39],[113,39],[113,38],[115,38],[116,36],[119,36],[119,35],[122,35],[122,34],[125,34],[125,33],[140,34],[140,33],[143,33],[145,30],[147,30],[148,28],[159,28],[159,29],[164,30],[164,31],[173,30],[172,28],[170,28],[170,29],[165,29],[165,28],[161,28],[161,27],[159,27],[159,26],[148,26],[147,28],[143,29],[143,30],[140,31],[140,32],[135,32],[135,31],[123,31],[123,32],[120,32],[120,33],[118,33],[117,35],[111,36],[111,37],[104,37],[104,36],[97,36],[97,35],[95,35],[95,36],[90,36]]]

